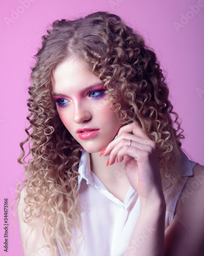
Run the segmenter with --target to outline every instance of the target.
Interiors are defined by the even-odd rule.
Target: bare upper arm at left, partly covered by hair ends
[[[28,224],[23,221],[24,219],[24,197],[26,196],[26,187],[24,186],[21,191],[20,199],[17,205],[17,216],[18,216],[18,226],[20,231],[20,238],[23,248],[24,256],[44,256],[51,255],[50,250],[47,246],[47,241],[43,236],[43,219],[41,217],[36,217],[33,221]],[[34,224],[34,228],[31,225]],[[47,234],[45,234],[47,236]],[[60,255],[59,251],[57,252]]]

